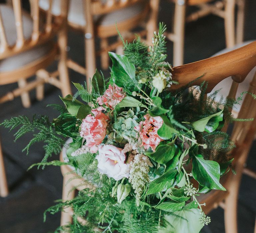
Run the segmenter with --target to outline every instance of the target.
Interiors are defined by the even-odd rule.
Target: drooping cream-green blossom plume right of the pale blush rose
[[[149,158],[143,154],[136,154],[130,163],[129,182],[132,184],[136,194],[136,204],[139,206],[139,200],[144,189],[144,185],[149,183],[149,167],[152,167]]]

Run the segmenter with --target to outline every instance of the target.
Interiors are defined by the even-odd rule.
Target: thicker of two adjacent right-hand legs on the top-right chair
[[[235,0],[226,0],[224,24],[226,47],[232,48],[235,46]]]

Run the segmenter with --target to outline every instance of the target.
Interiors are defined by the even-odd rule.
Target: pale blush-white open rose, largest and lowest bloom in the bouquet
[[[109,178],[120,180],[129,177],[129,165],[125,164],[125,154],[121,148],[113,145],[100,145],[98,160],[98,170],[101,174],[106,174]]]

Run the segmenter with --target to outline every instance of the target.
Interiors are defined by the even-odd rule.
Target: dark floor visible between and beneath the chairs
[[[159,20],[167,24],[171,30],[173,5],[165,0],[161,2]],[[245,40],[256,39],[256,1],[248,0],[246,8]],[[186,26],[185,37],[185,63],[194,62],[210,57],[219,50],[225,48],[223,20],[208,16],[195,23]],[[83,63],[83,36],[70,34],[70,56]],[[168,42],[168,61],[172,61],[172,43]],[[100,68],[99,61],[98,68]],[[53,67],[54,68],[54,67]],[[107,76],[108,71],[104,74]],[[83,82],[85,78],[70,71],[70,79],[73,82]],[[11,90],[15,85],[0,87],[0,95]],[[73,89],[75,91],[75,89]],[[56,116],[56,112],[46,108],[48,104],[61,103],[60,91],[51,86],[46,86],[45,99],[41,102],[35,100],[34,92],[31,93],[32,106],[24,109],[20,98],[1,105],[0,122],[11,116],[32,114],[45,114],[50,118]],[[46,167],[45,170],[36,168],[26,171],[27,168],[43,157],[42,145],[37,144],[30,150],[27,156],[21,150],[28,142],[28,137],[19,139],[15,144],[12,133],[0,128],[2,147],[4,152],[5,167],[7,171],[10,194],[6,198],[0,198],[0,232],[1,233],[45,233],[51,232],[59,226],[60,215],[48,216],[43,223],[43,212],[61,198],[62,175],[56,167]],[[254,143],[248,159],[248,166],[256,170],[256,143]],[[54,159],[57,159],[55,156]],[[238,205],[238,220],[240,233],[252,233],[254,229],[256,212],[256,180],[243,176]],[[212,223],[202,230],[205,233],[224,232],[223,210],[218,208],[210,213]]]

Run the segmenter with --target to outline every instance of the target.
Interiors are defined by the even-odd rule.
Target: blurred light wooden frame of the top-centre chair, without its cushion
[[[122,41],[118,40],[113,44],[109,44],[108,38],[118,35],[116,25],[97,25],[93,20],[93,16],[108,14],[143,1],[144,0],[107,0],[105,4],[102,4],[102,2],[99,0],[85,0],[83,2],[83,7],[86,26],[82,27],[81,25],[68,22],[71,29],[84,33],[85,67],[71,59],[67,60],[67,66],[80,74],[92,78],[96,70],[96,56],[99,55],[101,56],[102,68],[107,69],[109,67],[108,51],[118,49],[120,53],[120,49],[122,50]],[[145,26],[146,30],[139,32],[138,35],[146,36],[146,42],[151,44],[153,32],[157,29],[158,8],[159,0],[150,0],[149,5],[145,7],[142,14],[136,15],[135,17],[123,22],[117,22],[118,30],[126,40],[134,40],[134,34],[130,33],[129,31],[140,25],[149,14],[150,10],[151,12],[149,14],[149,19]],[[99,37],[101,39],[101,48],[97,52],[95,51],[95,37]],[[89,86],[89,78],[86,79],[87,86]]]

